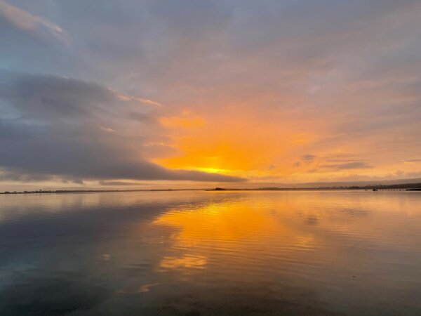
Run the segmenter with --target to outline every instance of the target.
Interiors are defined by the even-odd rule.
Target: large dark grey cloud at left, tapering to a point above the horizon
[[[147,161],[144,144],[159,137],[159,125],[142,129],[138,117],[127,119],[133,110],[157,115],[136,98],[121,100],[115,91],[93,82],[0,72],[0,166],[6,169],[2,177],[244,180],[170,170]]]

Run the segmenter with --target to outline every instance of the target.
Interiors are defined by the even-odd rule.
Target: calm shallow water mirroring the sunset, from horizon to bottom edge
[[[1,316],[421,315],[421,193],[0,195]]]

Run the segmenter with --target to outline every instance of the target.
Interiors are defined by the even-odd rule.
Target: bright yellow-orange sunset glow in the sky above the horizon
[[[171,126],[171,144],[178,152],[154,162],[170,169],[235,176],[262,176],[275,171],[286,175],[291,173],[293,163],[283,162],[284,157],[318,137],[312,131],[295,131],[282,121],[262,121],[256,125],[255,119],[244,114],[236,117],[207,114],[201,121],[200,125],[178,125],[178,129]]]

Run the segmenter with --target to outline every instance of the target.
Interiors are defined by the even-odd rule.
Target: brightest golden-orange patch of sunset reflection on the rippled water
[[[255,261],[265,259],[262,253],[279,253],[276,239],[281,235],[282,244],[296,234],[273,214],[241,199],[197,209],[175,209],[161,215],[154,224],[178,229],[171,235],[171,255],[161,260],[163,270],[213,270],[215,264],[234,267],[237,261],[253,266]],[[212,265],[208,265],[210,259]]]

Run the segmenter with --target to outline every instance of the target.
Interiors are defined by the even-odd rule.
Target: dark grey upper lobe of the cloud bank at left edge
[[[116,93],[91,82],[6,71],[0,72],[0,97],[20,118],[46,123],[92,118],[118,100]]]

